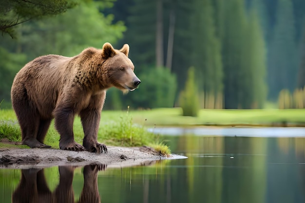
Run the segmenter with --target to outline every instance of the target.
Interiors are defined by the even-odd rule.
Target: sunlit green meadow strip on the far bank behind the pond
[[[119,111],[105,111],[104,116]],[[202,109],[197,117],[182,116],[180,108],[130,111],[133,122],[145,126],[192,125],[305,125],[305,109],[210,110]]]

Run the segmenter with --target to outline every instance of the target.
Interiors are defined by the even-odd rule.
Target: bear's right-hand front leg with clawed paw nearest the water
[[[80,119],[84,129],[83,146],[87,151],[97,154],[103,151],[107,152],[107,147],[104,144],[97,142],[97,132],[100,122],[100,111],[96,109],[84,109],[80,111]]]

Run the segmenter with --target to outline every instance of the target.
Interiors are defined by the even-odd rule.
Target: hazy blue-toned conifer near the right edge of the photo
[[[276,23],[268,50],[269,98],[282,89],[293,91],[297,78],[297,46],[291,0],[279,0]]]

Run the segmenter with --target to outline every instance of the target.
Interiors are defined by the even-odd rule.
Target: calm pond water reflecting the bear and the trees
[[[167,143],[188,159],[130,168],[1,169],[0,203],[305,202],[305,129],[175,130],[165,133],[179,134],[166,136]]]

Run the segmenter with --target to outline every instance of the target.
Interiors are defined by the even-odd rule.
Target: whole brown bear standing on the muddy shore
[[[128,54],[128,44],[114,50],[105,43],[101,50],[87,48],[74,57],[44,55],[27,63],[15,76],[11,90],[22,144],[50,148],[43,140],[55,118],[60,149],[107,152],[106,146],[97,142],[106,90],[133,91],[141,82]],[[83,146],[74,140],[76,114],[84,130]]]

